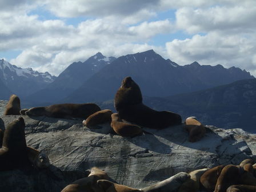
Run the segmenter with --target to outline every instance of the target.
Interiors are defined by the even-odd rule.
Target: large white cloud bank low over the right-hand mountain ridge
[[[180,65],[198,61],[202,65],[239,66],[255,70],[255,38],[211,32],[166,43],[169,57]],[[253,71],[255,75],[255,71]]]

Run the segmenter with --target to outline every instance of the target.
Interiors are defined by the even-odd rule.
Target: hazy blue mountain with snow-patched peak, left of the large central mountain
[[[30,95],[26,100],[37,104],[58,102],[114,59],[114,57],[105,57],[97,53],[85,62],[74,62],[59,74],[54,82],[47,85],[45,89]]]

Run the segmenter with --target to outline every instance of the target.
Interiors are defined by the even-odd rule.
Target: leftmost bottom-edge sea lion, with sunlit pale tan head
[[[98,169],[97,167],[91,168],[91,173],[88,177],[78,179],[70,185],[67,185],[61,192],[100,192],[102,191],[98,185],[97,181],[99,179],[110,179],[105,171]]]

